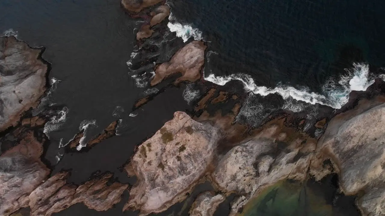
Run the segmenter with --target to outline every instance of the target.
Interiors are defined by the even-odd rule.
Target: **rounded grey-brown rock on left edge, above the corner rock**
[[[15,37],[0,38],[0,130],[15,125],[44,94],[47,65],[41,53]]]

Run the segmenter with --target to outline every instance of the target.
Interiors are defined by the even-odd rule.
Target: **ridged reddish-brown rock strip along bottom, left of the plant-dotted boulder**
[[[50,216],[76,203],[90,209],[106,211],[121,200],[127,184],[113,183],[107,186],[112,174],[104,174],[76,187],[65,184],[67,173],[58,173],[42,183],[29,196],[31,216]]]

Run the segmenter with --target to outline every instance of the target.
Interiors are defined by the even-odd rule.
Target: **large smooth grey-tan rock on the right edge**
[[[364,213],[385,214],[385,104],[335,116],[317,145],[317,157],[329,157],[340,171],[345,194],[365,191],[358,201]],[[321,155],[321,156],[320,156]]]

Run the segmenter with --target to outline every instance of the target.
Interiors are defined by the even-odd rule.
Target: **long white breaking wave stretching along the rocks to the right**
[[[349,94],[352,91],[365,91],[368,86],[374,83],[375,77],[369,76],[369,65],[365,63],[354,63],[352,69],[346,69],[347,75],[341,76],[338,84],[333,80],[328,80],[323,86],[323,95],[315,92],[310,92],[303,87],[303,90],[298,90],[288,85],[278,85],[275,88],[266,86],[257,86],[253,78],[246,74],[233,74],[230,76],[215,76],[210,74],[204,77],[205,80],[217,85],[225,85],[231,80],[239,80],[244,84],[246,91],[254,94],[266,96],[277,93],[283,99],[293,98],[298,101],[304,101],[315,105],[330,106],[335,109],[340,109],[349,100]]]

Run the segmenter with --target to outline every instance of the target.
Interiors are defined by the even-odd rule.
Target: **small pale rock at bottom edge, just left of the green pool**
[[[190,216],[213,216],[225,198],[223,194],[215,195],[214,191],[199,194],[191,206]]]

